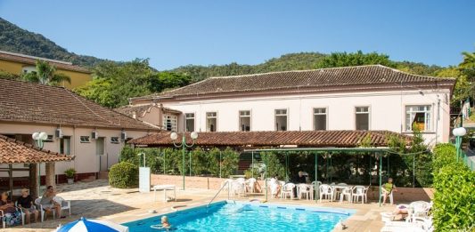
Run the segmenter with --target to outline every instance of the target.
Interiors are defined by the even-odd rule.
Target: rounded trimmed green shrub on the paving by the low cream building
[[[109,184],[113,188],[134,188],[138,185],[138,166],[120,162],[111,166]]]

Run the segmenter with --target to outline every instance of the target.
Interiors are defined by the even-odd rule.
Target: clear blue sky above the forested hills
[[[0,17],[70,52],[160,70],[357,50],[446,66],[475,50],[472,0],[0,0]]]

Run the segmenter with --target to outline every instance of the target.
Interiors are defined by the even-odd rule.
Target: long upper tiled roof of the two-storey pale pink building
[[[367,65],[344,68],[322,68],[315,70],[284,71],[243,76],[210,77],[169,92],[161,92],[135,99],[174,98],[178,96],[199,96],[226,92],[283,91],[298,89],[327,89],[343,86],[374,86],[378,84],[430,83],[455,84],[454,78],[419,76],[381,65]]]

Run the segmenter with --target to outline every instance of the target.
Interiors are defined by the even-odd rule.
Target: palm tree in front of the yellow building
[[[21,78],[39,84],[60,85],[63,82],[71,84],[70,76],[56,73],[56,67],[45,60],[37,60],[37,70],[24,74]]]

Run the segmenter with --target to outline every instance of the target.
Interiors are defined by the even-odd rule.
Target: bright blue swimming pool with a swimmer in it
[[[160,231],[167,215],[175,231],[332,231],[355,211],[284,204],[223,201],[124,223],[130,232]]]

